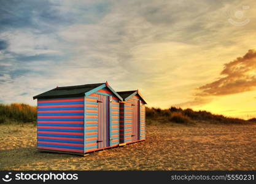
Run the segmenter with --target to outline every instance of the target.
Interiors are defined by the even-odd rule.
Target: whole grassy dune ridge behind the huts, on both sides
[[[0,104],[0,124],[1,123],[36,123],[37,111],[35,106],[28,104]],[[256,123],[256,118],[242,120],[239,118],[228,118],[223,115],[214,115],[205,110],[194,111],[192,109],[181,109],[171,107],[169,109],[145,108],[146,123]]]

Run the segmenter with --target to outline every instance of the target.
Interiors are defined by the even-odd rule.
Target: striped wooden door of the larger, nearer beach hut
[[[98,148],[109,147],[109,96],[98,94]]]

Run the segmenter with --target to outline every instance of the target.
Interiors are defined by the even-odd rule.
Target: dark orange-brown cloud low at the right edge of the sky
[[[256,51],[249,50],[246,55],[224,65],[220,73],[223,77],[200,86],[198,96],[222,96],[242,93],[256,88]]]

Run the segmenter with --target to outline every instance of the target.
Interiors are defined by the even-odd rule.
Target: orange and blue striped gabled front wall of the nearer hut
[[[98,102],[103,101],[102,96],[108,96],[109,105],[106,106],[106,110],[98,109]],[[99,120],[99,110],[103,110],[104,113],[109,114],[106,116],[109,120]],[[109,112],[110,111],[110,112]],[[100,117],[99,117],[100,118]],[[102,122],[106,121],[109,125],[105,126],[103,130],[99,132],[99,126],[103,125]],[[96,151],[106,147],[114,147],[119,144],[119,106],[118,98],[112,91],[108,88],[103,88],[96,91],[93,94],[85,97],[85,152]],[[107,131],[109,130],[108,137],[104,139],[109,139],[107,144],[102,145],[97,142],[98,139],[102,139],[100,135],[107,136]],[[104,131],[104,132],[103,132]]]

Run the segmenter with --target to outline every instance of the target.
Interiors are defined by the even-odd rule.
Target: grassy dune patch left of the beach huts
[[[0,123],[35,123],[36,107],[28,104],[0,104]]]

